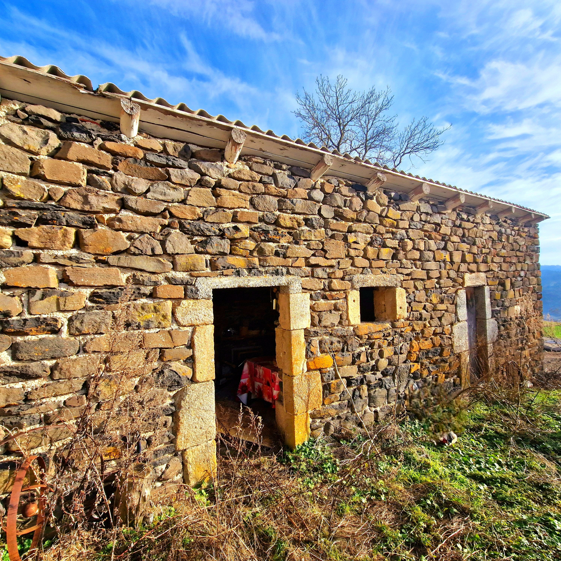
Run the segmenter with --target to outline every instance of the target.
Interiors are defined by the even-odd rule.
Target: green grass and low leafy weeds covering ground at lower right
[[[384,557],[431,559],[446,535],[443,527],[463,525],[467,529],[446,542],[454,559],[561,559],[560,398],[555,392],[528,397],[520,410],[479,404],[453,447],[435,445],[410,422],[415,443],[376,457],[379,477],[355,477],[355,491],[339,514],[354,509],[364,516],[372,500],[397,509],[399,523],[380,523],[373,540],[373,553]],[[334,477],[325,450],[314,462],[311,448],[289,454],[299,470],[310,466],[304,486],[321,473]]]

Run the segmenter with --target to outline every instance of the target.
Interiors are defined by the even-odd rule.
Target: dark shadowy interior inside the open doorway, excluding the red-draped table
[[[254,442],[248,431],[233,429],[238,424],[241,401],[238,387],[246,360],[260,362],[275,360],[275,327],[278,325],[277,288],[221,288],[213,291],[215,395],[218,429]],[[211,342],[209,342],[211,344]],[[274,367],[274,365],[272,365]],[[275,412],[264,399],[246,398],[242,406],[244,418],[247,408],[261,417],[264,425],[263,444],[273,430]],[[245,420],[245,419],[244,419]],[[236,434],[234,434],[236,433]],[[267,433],[267,434],[265,434]]]

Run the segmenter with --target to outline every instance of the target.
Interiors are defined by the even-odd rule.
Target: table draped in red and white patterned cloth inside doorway
[[[274,358],[264,356],[246,360],[237,396],[247,405],[248,398],[261,398],[275,407],[280,392],[280,376]]]

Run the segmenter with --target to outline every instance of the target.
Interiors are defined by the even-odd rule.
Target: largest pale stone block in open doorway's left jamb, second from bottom
[[[214,382],[190,384],[175,395],[176,450],[193,448],[214,440],[216,417]]]

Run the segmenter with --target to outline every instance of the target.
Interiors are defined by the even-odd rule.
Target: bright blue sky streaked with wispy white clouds
[[[0,0],[0,54],[21,54],[296,137],[317,75],[389,85],[406,123],[452,124],[409,171],[551,215],[561,264],[561,3],[541,0]]]

